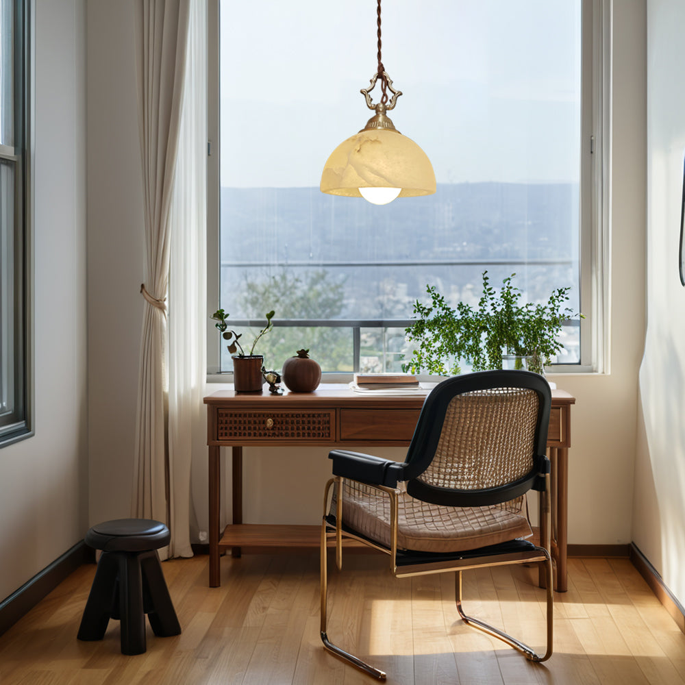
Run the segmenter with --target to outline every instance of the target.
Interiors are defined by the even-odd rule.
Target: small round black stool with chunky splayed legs
[[[157,550],[169,528],[149,519],[117,519],[94,525],[86,545],[101,549],[95,579],[79,627],[79,640],[101,640],[111,619],[121,621],[121,653],[145,651],[145,614],[155,635],[179,635]]]

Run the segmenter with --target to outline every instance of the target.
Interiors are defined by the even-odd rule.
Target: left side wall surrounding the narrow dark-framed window
[[[0,598],[86,532],[86,164],[82,0],[35,12],[34,427],[0,450]]]

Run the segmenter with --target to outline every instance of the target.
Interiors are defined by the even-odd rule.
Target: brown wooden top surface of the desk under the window
[[[423,384],[427,390],[435,384]],[[269,406],[274,409],[279,403],[283,403],[284,408],[295,405],[312,405],[332,403],[336,406],[360,407],[367,405],[383,405],[391,407],[421,407],[426,395],[386,395],[369,393],[354,393],[349,386],[341,383],[322,383],[313,393],[292,393],[284,388],[283,395],[271,395],[269,390],[264,389],[262,393],[236,393],[231,384],[216,384],[216,392],[204,398],[208,405],[225,405],[239,402],[243,406]],[[427,393],[426,393],[427,394]],[[566,390],[552,390],[552,403],[575,404],[575,397],[566,393]]]

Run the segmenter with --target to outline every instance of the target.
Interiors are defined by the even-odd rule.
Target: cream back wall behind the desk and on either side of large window
[[[612,373],[551,378],[577,397],[569,541],[586,544],[631,540],[637,373],[645,327],[645,0],[614,4]],[[91,521],[127,515],[131,491],[142,319],[137,299],[142,243],[135,221],[142,221],[142,208],[135,187],[140,155],[132,142],[137,124],[130,8],[130,0],[88,2]],[[107,311],[94,303],[106,303]],[[330,473],[325,448],[245,453],[246,522],[319,520],[321,490]],[[402,452],[383,454],[401,458]],[[228,466],[226,461],[226,471]],[[206,470],[205,464],[199,467]],[[295,497],[284,488],[289,484]],[[203,484],[194,489],[203,527],[206,490]]]

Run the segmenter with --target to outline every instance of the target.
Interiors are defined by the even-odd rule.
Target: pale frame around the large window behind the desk
[[[610,0],[582,0],[581,149],[580,149],[580,361],[553,364],[548,373],[608,373],[608,122],[610,94]],[[208,0],[208,207],[207,313],[219,303],[220,266],[220,118],[219,118],[219,0]],[[323,160],[322,160],[323,164]],[[306,326],[315,322],[274,321],[274,325]],[[368,322],[343,321],[354,328]],[[384,322],[371,322],[379,325]],[[388,321],[397,327],[397,321]],[[400,322],[403,323],[403,322]],[[234,320],[239,326],[261,327],[263,321]],[[208,319],[208,380],[229,382],[232,372],[221,372],[221,347]],[[358,354],[355,354],[355,365]],[[326,382],[349,382],[351,373],[325,373]],[[421,376],[428,379],[427,376]]]

